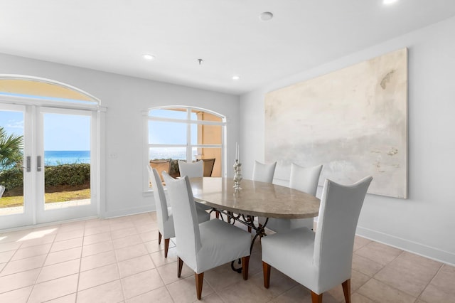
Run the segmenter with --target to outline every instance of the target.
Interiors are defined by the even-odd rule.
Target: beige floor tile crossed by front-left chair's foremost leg
[[[184,279],[173,282],[168,287],[169,294],[171,294],[174,302],[189,303],[196,302],[196,281],[194,276],[186,277]],[[205,299],[209,294],[213,294],[213,288],[205,281],[202,287],[202,298]]]

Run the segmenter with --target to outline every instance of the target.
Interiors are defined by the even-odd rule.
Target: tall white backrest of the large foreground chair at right
[[[355,228],[372,180],[368,176],[349,186],[328,179],[324,183],[313,262],[319,267],[319,281],[325,285],[336,285],[351,275]]]

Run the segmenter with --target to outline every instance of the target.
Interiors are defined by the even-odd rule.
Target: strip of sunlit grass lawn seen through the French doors
[[[90,188],[80,191],[58,191],[55,193],[45,193],[45,203],[55,203],[73,200],[90,199]],[[22,206],[23,196],[1,197],[0,208]]]

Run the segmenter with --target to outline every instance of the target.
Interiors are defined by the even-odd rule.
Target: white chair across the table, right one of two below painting
[[[316,196],[316,191],[319,184],[319,176],[321,176],[322,165],[303,167],[297,164],[291,164],[291,177],[289,179],[289,187],[304,191],[312,196]],[[286,203],[286,201],[283,201]],[[294,228],[307,227],[313,229],[314,219],[281,219],[269,218],[267,228],[277,233],[282,233]]]

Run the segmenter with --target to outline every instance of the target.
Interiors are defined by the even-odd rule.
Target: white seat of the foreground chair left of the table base
[[[199,230],[203,244],[197,252],[196,268],[192,268],[196,273],[250,255],[251,234],[246,230],[222,220],[200,223]]]

